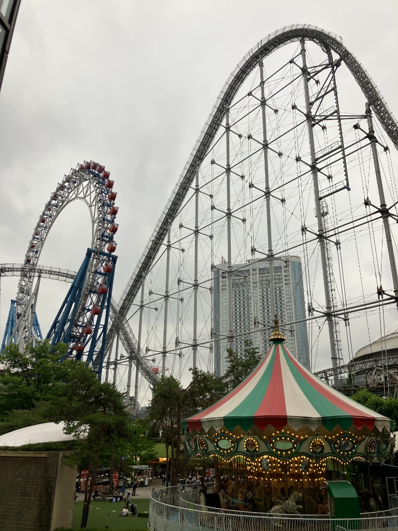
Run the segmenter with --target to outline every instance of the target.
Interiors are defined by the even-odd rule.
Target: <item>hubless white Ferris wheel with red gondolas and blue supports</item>
[[[55,192],[41,212],[25,254],[15,298],[15,326],[6,330],[6,344],[16,342],[23,347],[26,342],[40,339],[37,335],[36,301],[39,280],[33,288],[42,247],[55,220],[68,204],[83,201],[92,223],[91,244],[82,266],[65,297],[47,338],[54,344],[64,341],[69,345],[68,356],[88,359],[98,354],[98,341],[102,337],[105,347],[107,322],[117,256],[114,235],[118,230],[115,218],[117,193],[114,181],[105,166],[94,161],[84,161],[70,170],[58,183]],[[102,319],[104,317],[104,319]],[[103,356],[102,356],[103,357]]]

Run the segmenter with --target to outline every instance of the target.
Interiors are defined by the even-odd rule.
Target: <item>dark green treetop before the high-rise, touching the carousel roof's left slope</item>
[[[240,382],[253,371],[261,361],[259,348],[254,347],[252,341],[245,341],[243,352],[235,352],[227,348],[228,370],[224,374],[224,381],[230,389],[235,389]]]

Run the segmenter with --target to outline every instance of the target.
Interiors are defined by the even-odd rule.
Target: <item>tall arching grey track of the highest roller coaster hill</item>
[[[357,81],[365,97],[370,102],[380,124],[382,124],[384,130],[392,140],[395,148],[398,149],[398,125],[395,121],[390,109],[382,97],[380,91],[376,87],[373,80],[370,78],[367,71],[358,62],[356,57],[343,45],[342,39],[334,33],[325,31],[321,28],[309,24],[294,24],[286,26],[280,30],[270,33],[257,43],[257,45],[249,50],[249,52],[241,59],[238,65],[235,67],[227,82],[224,84],[215,104],[212,112],[207,118],[206,123],[202,129],[202,132],[196,141],[195,147],[189,156],[183,172],[181,173],[178,182],[172,192],[170,199],[168,200],[165,209],[163,209],[162,215],[159,218],[152,236],[146,245],[146,248],[141,256],[141,259],[137,263],[133,274],[128,281],[128,284],[124,290],[124,294],[120,298],[118,304],[118,313],[120,317],[120,331],[123,332],[123,322],[127,315],[127,312],[131,308],[134,299],[139,292],[142,278],[146,276],[150,270],[155,257],[157,256],[160,247],[165,240],[168,222],[175,219],[177,212],[179,211],[181,204],[183,203],[189,189],[191,188],[196,172],[196,166],[200,165],[203,161],[207,151],[211,147],[215,134],[217,133],[224,114],[226,113],[226,107],[231,105],[233,98],[235,97],[239,87],[243,84],[247,76],[258,65],[259,55],[266,57],[270,55],[274,50],[281,48],[289,42],[299,41],[301,38],[312,40],[319,46],[328,50],[333,50],[339,55],[341,61],[349,68],[349,71]],[[118,320],[118,319],[117,319]],[[113,332],[111,327],[110,332]],[[112,333],[109,333],[107,338],[107,350],[110,347]]]

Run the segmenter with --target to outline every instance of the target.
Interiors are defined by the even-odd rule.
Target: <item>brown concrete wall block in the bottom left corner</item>
[[[0,452],[0,529],[52,531],[72,520],[76,469],[63,452]]]

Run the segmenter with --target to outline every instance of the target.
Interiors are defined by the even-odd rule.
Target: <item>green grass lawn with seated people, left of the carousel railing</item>
[[[134,503],[137,502],[137,510],[149,511],[149,499],[132,498]],[[139,518],[135,516],[121,517],[119,513],[124,507],[123,502],[108,503],[105,501],[91,501],[91,508],[87,527],[99,527],[105,529],[148,529],[148,518]],[[72,529],[80,529],[82,521],[83,502],[77,501],[73,506]]]

